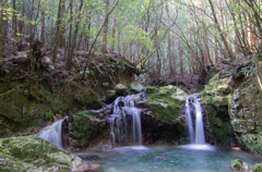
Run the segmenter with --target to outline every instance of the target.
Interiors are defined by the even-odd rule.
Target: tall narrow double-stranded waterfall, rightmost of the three
[[[193,130],[193,122],[192,122],[192,115],[191,115],[192,107],[190,105],[193,106],[193,110],[195,114],[194,130]],[[195,96],[190,96],[186,100],[186,121],[188,125],[190,143],[196,144],[196,145],[205,144],[202,107],[199,99]]]

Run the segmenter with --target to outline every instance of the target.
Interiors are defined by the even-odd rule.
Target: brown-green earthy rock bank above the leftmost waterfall
[[[43,61],[34,75],[28,59],[0,62],[0,138],[31,135],[53,119],[81,110],[99,109],[106,89],[118,83],[128,86],[134,69],[121,58],[97,58],[83,71],[73,72]]]

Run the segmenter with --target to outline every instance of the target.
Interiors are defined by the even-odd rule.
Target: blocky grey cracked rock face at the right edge
[[[235,89],[229,101],[229,115],[241,148],[262,153],[261,90],[255,78]]]

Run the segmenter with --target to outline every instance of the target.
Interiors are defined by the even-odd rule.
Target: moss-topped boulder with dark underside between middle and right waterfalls
[[[184,144],[180,142],[184,136],[183,105],[187,94],[175,87],[166,86],[147,91],[143,112],[143,135],[145,144],[155,144],[156,140]],[[143,108],[143,107],[142,107]]]

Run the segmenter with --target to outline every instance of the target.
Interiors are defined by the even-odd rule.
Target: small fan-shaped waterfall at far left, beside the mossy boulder
[[[64,119],[63,119],[64,120]],[[59,120],[52,123],[50,126],[44,127],[37,136],[46,139],[49,143],[55,144],[58,148],[62,148],[62,122]]]

